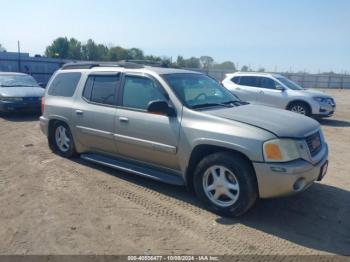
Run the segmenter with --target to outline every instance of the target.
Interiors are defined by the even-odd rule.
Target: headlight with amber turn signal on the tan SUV
[[[298,145],[292,139],[273,139],[264,143],[264,158],[267,162],[288,162],[300,158]]]

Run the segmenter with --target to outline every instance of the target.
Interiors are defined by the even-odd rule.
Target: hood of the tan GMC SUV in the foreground
[[[206,113],[259,127],[278,137],[304,138],[320,127],[312,118],[260,105],[208,110]]]

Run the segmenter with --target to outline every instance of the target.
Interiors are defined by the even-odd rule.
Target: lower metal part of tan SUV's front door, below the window
[[[118,109],[115,140],[120,155],[178,169],[179,122],[147,112]]]

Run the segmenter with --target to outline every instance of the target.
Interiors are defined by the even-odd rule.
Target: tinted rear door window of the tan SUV
[[[115,105],[120,76],[89,76],[83,91],[83,97],[91,102]]]

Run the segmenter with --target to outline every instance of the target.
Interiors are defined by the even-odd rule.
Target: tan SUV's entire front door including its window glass
[[[121,156],[158,166],[178,169],[177,145],[180,122],[177,117],[147,112],[150,101],[168,101],[153,78],[126,74],[115,119],[115,140]]]

